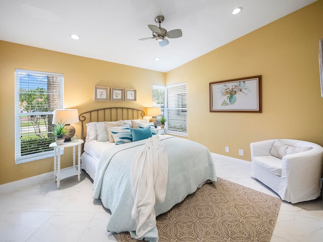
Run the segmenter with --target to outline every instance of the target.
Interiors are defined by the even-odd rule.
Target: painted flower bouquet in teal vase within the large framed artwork
[[[224,98],[221,106],[233,105],[237,101],[237,95],[249,95],[250,89],[246,86],[246,82],[236,82],[234,84],[223,84],[219,88],[220,98]]]

